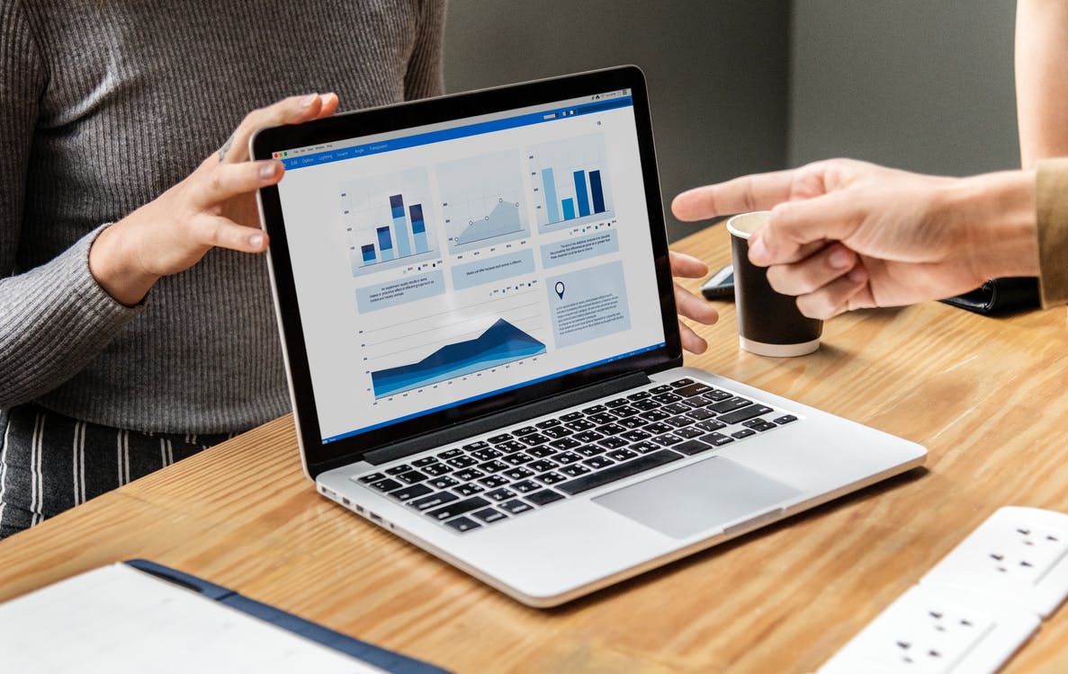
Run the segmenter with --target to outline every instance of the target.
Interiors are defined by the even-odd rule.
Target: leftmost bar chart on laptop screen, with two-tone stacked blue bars
[[[425,170],[343,182],[339,194],[354,276],[439,255]]]

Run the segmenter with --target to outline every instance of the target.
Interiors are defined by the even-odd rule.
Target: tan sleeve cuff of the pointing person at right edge
[[[1038,162],[1035,207],[1042,307],[1068,304],[1068,158]]]

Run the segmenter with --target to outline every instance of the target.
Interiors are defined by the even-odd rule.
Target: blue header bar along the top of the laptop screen
[[[418,145],[440,143],[441,141],[451,141],[458,138],[467,138],[469,135],[478,135],[480,133],[491,133],[493,131],[515,129],[517,127],[529,126],[532,124],[567,119],[569,117],[604,112],[606,110],[614,110],[616,108],[627,108],[633,105],[634,101],[630,96],[622,96],[614,100],[594,101],[578,106],[568,106],[567,108],[543,110],[540,112],[516,115],[515,117],[505,117],[503,119],[492,119],[490,122],[469,124],[454,129],[441,129],[440,131],[429,131],[427,133],[417,133],[415,135],[406,135],[403,138],[390,139],[388,141],[367,143],[366,145],[354,145],[351,147],[342,147],[340,149],[329,149],[321,153],[314,153],[312,155],[303,155],[301,157],[290,157],[288,159],[283,159],[282,164],[285,166],[286,171],[293,171],[295,168],[304,168],[316,164],[327,164],[334,161],[344,161],[346,159],[365,157],[367,155],[389,153],[396,149],[404,149],[406,147],[415,147]]]

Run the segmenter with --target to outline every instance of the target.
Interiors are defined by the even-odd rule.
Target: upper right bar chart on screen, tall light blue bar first
[[[550,231],[614,216],[600,133],[528,148],[538,227]]]

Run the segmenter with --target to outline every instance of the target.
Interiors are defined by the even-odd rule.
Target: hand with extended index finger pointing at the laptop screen
[[[771,223],[750,259],[813,318],[1038,274],[1033,172],[945,178],[836,159],[696,188],[672,204],[690,221],[766,209]]]

